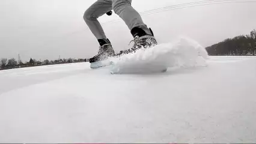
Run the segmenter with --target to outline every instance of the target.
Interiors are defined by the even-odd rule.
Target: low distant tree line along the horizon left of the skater
[[[29,61],[22,62],[21,60],[16,61],[16,59],[11,58],[1,58],[0,59],[0,70],[7,70],[11,68],[22,68],[22,67],[35,67],[40,65],[54,65],[54,64],[67,64],[67,63],[73,63],[73,62],[84,62],[85,59],[75,59],[75,58],[69,58],[69,59],[58,59],[54,61],[49,61],[48,59],[44,61],[37,61],[36,59],[30,58]]]

